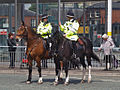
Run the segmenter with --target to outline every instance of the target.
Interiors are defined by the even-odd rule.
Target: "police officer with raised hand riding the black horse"
[[[76,51],[76,42],[78,40],[77,31],[79,28],[79,23],[74,19],[74,14],[72,12],[67,13],[68,21],[64,25],[59,22],[60,30],[64,32],[64,36],[72,41],[72,46],[74,52]]]

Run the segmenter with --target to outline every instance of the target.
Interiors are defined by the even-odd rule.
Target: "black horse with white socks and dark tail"
[[[84,83],[84,80],[86,77],[85,57],[87,58],[88,69],[89,69],[88,83],[90,83],[91,82],[91,66],[92,66],[91,58],[100,62],[99,57],[93,52],[92,42],[84,36],[79,37],[79,39],[83,42],[83,47],[79,48],[81,45],[79,42],[77,42],[76,43],[77,51],[76,51],[76,55],[74,55],[73,48],[71,45],[72,41],[66,39],[63,36],[63,34],[61,33],[61,31],[56,30],[53,38],[54,38],[54,45],[57,46],[56,47],[57,55],[60,58],[60,59],[57,59],[57,61],[55,62],[56,63],[56,78],[55,78],[54,84],[57,85],[59,83],[60,71],[61,71],[60,61],[63,62],[63,66],[64,66],[64,70],[65,70],[65,74],[66,74],[66,78],[65,78],[65,82],[64,82],[65,85],[69,84],[69,74],[68,74],[68,62],[69,61],[74,64],[78,64],[78,63],[82,64],[83,75],[82,75],[81,83]],[[79,58],[80,62],[78,61],[78,59],[74,58],[74,56],[76,58]]]

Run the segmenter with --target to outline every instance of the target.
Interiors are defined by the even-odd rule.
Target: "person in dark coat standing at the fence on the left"
[[[10,53],[10,66],[9,66],[9,68],[14,68],[15,67],[15,51],[16,51],[16,47],[14,47],[14,46],[18,46],[18,45],[16,44],[14,34],[11,32],[8,34],[7,43],[9,46],[8,51]]]

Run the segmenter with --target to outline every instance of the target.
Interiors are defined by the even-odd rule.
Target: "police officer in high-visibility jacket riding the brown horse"
[[[42,15],[42,21],[40,21],[40,24],[37,28],[37,34],[40,34],[42,38],[44,38],[47,42],[46,48],[49,50],[51,49],[51,34],[52,34],[52,25],[48,22],[48,15],[43,14]]]

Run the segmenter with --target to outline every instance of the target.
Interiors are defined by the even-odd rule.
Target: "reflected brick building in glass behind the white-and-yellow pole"
[[[90,25],[90,36],[93,38],[95,46],[100,45],[97,35],[105,33],[105,2],[96,3],[89,6],[86,10],[87,22]],[[120,45],[120,2],[112,3],[112,37],[116,46]],[[106,19],[107,20],[107,19]]]

